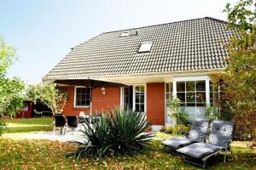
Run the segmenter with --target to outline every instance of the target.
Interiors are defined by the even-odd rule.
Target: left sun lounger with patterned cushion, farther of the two
[[[209,121],[206,119],[197,119],[193,122],[190,132],[185,135],[185,138],[172,138],[162,141],[165,150],[177,153],[176,150],[195,142],[202,142],[206,139]]]

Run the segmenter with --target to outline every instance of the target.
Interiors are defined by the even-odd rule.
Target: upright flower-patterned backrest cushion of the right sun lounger
[[[212,122],[211,133],[207,143],[225,147],[226,141],[232,139],[234,127],[234,122]]]

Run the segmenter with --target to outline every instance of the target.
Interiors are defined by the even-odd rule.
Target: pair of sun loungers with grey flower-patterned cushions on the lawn
[[[207,160],[219,152],[224,152],[224,162],[228,151],[234,157],[230,147],[234,128],[234,122],[196,120],[185,138],[167,139],[161,144],[166,151],[182,155],[185,161],[205,168]]]

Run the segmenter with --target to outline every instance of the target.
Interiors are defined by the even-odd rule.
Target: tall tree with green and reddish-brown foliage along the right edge
[[[236,133],[241,139],[256,139],[256,3],[241,0],[226,5],[228,28],[234,31],[224,44],[229,53],[223,80],[223,105],[228,105]]]

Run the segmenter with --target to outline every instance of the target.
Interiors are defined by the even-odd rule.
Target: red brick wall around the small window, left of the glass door
[[[67,90],[67,105],[63,110],[64,115],[79,115],[80,111],[85,114],[90,113],[90,108],[75,108],[74,105],[74,87],[63,87]],[[95,88],[92,91],[92,111],[102,111],[112,108],[113,105],[120,104],[120,88],[106,88],[106,94],[102,94],[101,88]]]

